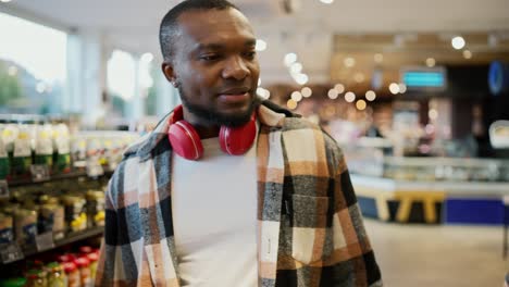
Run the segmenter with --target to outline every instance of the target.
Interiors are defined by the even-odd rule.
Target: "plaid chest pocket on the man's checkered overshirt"
[[[291,196],[291,257],[310,264],[333,251],[328,198]]]

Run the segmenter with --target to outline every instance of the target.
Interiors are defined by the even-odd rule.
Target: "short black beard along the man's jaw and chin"
[[[254,99],[249,103],[249,109],[246,112],[225,115],[216,109],[207,109],[189,102],[187,96],[184,93],[181,87],[178,87],[178,92],[181,93],[182,103],[190,113],[203,121],[207,121],[208,123],[218,126],[239,127],[245,125],[251,120],[252,112],[260,103],[258,98],[254,97]]]

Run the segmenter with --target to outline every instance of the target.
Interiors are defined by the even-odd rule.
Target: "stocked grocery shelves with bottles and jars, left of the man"
[[[0,286],[92,286],[104,190],[137,137],[0,118]]]

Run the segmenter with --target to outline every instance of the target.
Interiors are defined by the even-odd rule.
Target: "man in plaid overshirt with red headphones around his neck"
[[[97,285],[381,286],[342,151],[256,98],[256,37],[239,10],[184,1],[160,40],[183,105],[110,180]]]

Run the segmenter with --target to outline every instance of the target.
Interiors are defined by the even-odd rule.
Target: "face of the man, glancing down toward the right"
[[[249,121],[260,67],[247,18],[235,9],[190,11],[178,24],[169,66],[186,121],[204,126]],[[164,65],[163,71],[169,77]]]

